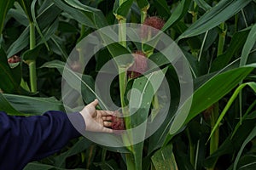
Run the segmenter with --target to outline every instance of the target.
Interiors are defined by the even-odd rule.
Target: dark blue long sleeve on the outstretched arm
[[[0,169],[22,169],[28,162],[49,156],[61,150],[70,139],[81,136],[70,119],[85,129],[79,112],[8,116],[0,111]]]

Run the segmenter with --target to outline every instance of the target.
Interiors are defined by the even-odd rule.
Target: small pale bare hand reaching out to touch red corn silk
[[[95,99],[89,105],[85,105],[80,114],[84,117],[85,130],[91,132],[113,133],[111,128],[113,111],[96,110],[98,100]]]

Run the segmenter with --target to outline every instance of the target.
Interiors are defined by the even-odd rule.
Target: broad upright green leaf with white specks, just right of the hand
[[[154,71],[152,73],[149,73],[145,77],[139,77],[134,80],[131,88],[132,91],[130,96],[129,109],[130,113],[132,113],[134,109],[137,109],[137,111],[131,117],[128,117],[128,121],[127,117],[125,118],[125,126],[130,128],[137,127],[138,125],[140,125],[140,130],[132,130],[131,139],[144,138],[147,127],[145,121],[148,118],[150,104],[154,97],[154,94],[160,87],[160,84],[163,81],[163,78],[165,77],[166,71],[167,68],[160,71]],[[141,169],[141,163],[143,161],[143,142],[134,144],[133,150],[135,150],[135,165],[137,169]]]

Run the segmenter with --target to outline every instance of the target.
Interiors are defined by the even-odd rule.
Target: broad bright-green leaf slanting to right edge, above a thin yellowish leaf
[[[224,97],[225,94],[228,94],[230,90],[235,88],[241,80],[247,77],[255,67],[256,64],[252,64],[230,71],[224,71],[223,73],[215,74],[213,77],[208,79],[207,82],[204,82],[193,94],[189,115],[187,117],[183,117],[186,119],[184,123],[181,121],[183,125],[186,125],[195,116],[200,114],[201,111],[206,110],[210,105],[217,102],[218,99]],[[182,117],[182,114],[180,117]],[[178,132],[181,122],[173,121],[170,133],[166,136],[165,144],[167,144],[170,139],[172,139],[173,135]]]

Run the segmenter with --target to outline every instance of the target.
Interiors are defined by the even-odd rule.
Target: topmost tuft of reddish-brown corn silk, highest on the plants
[[[155,36],[158,32],[158,30],[162,29],[162,27],[165,25],[165,21],[160,19],[157,16],[150,16],[148,17],[144,22],[142,26],[142,32],[141,32],[141,37],[142,38],[147,38],[149,34],[151,36]],[[152,29],[148,26],[151,26],[155,29]]]

